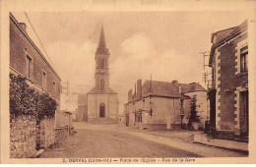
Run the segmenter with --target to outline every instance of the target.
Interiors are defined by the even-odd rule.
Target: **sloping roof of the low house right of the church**
[[[179,87],[181,93],[179,93]],[[167,83],[158,81],[146,81],[142,86],[142,96],[157,95],[165,97],[185,97],[182,93],[193,91],[206,91],[206,89],[199,83]]]

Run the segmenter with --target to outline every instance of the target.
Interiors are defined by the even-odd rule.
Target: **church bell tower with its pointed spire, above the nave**
[[[108,69],[108,59],[109,52],[105,45],[105,37],[103,26],[101,26],[99,43],[96,48],[96,91],[97,92],[107,92],[109,87],[109,69]]]

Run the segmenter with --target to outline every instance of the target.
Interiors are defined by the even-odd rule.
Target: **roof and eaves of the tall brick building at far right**
[[[215,49],[219,47],[220,45],[224,44],[225,41],[230,40],[231,38],[239,35],[243,31],[247,30],[248,23],[247,20],[245,20],[241,25],[234,27],[234,28],[227,28],[224,30],[217,31],[212,34],[212,48],[210,52],[210,59],[209,59],[209,66],[212,66],[213,58]]]

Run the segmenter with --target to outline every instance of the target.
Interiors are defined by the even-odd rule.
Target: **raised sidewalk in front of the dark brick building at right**
[[[206,134],[194,136],[194,142],[217,146],[226,149],[248,152],[248,143],[226,139],[209,139]]]

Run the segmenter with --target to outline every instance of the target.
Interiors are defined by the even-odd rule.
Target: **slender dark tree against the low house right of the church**
[[[197,115],[196,97],[191,99],[190,112],[188,116],[188,129],[194,130],[192,123],[199,123],[200,116]]]

